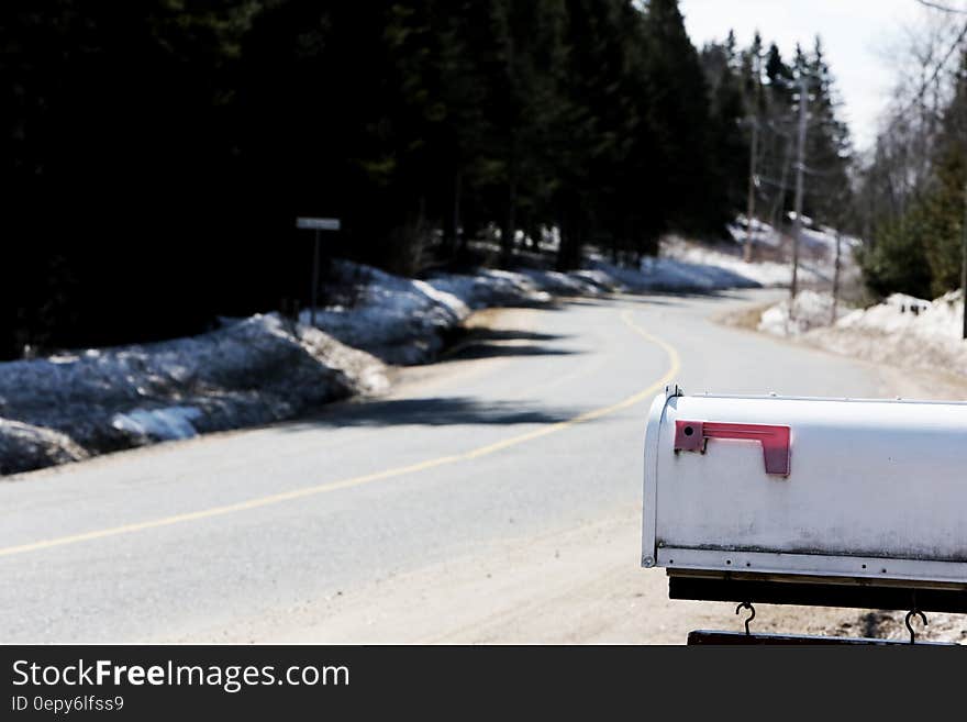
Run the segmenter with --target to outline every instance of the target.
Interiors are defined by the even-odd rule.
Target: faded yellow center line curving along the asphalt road
[[[623,409],[627,409],[629,407],[633,407],[636,403],[641,403],[642,401],[649,398],[655,391],[662,389],[667,384],[673,381],[675,377],[678,375],[680,369],[680,359],[678,356],[678,352],[674,346],[668,344],[667,342],[658,338],[657,336],[653,336],[647,331],[643,330],[632,320],[632,315],[630,311],[624,311],[621,314],[621,320],[627,325],[632,331],[634,331],[640,336],[644,337],[646,341],[657,345],[660,347],[667,355],[669,360],[668,370],[665,375],[659,378],[657,381],[652,384],[645,389],[642,389],[637,393],[634,393],[618,403],[612,403],[607,407],[601,407],[600,409],[593,409],[591,411],[587,411],[585,413],[578,414],[571,419],[567,419],[566,421],[559,421],[557,423],[548,424],[546,426],[542,426],[535,431],[527,432],[525,434],[520,434],[518,436],[511,436],[510,438],[505,438],[503,441],[497,442],[494,444],[488,444],[486,446],[479,446],[477,448],[473,448],[468,452],[464,452],[462,454],[454,454],[451,456],[440,456],[437,458],[427,459],[425,462],[420,462],[418,464],[410,464],[408,466],[398,466],[396,468],[386,469],[384,471],[376,471],[374,474],[366,474],[364,476],[356,476],[348,479],[341,479],[338,481],[331,481],[329,484],[321,484],[312,487],[303,487],[301,489],[293,489],[291,491],[284,491],[281,493],[274,493],[267,497],[258,497],[256,499],[249,499],[247,501],[240,501],[233,504],[226,504],[224,507],[213,507],[210,509],[202,509],[199,511],[192,511],[184,514],[175,514],[174,516],[164,516],[162,519],[152,519],[143,522],[135,522],[132,524],[124,524],[122,526],[112,526],[110,529],[101,529],[92,532],[85,532],[82,534],[71,534],[69,536],[58,536],[55,538],[44,540],[41,542],[32,542],[30,544],[21,544],[19,546],[8,546],[5,548],[0,548],[0,557],[2,556],[13,556],[15,554],[25,554],[27,552],[38,552],[41,549],[48,549],[55,546],[66,546],[68,544],[78,544],[80,542],[89,542],[92,540],[105,538],[109,536],[118,536],[121,534],[132,534],[134,532],[142,532],[148,529],[158,529],[160,526],[170,526],[173,524],[181,524],[184,522],[199,521],[202,519],[212,519],[214,516],[223,516],[225,514],[233,514],[240,511],[248,511],[252,509],[259,509],[262,507],[269,507],[273,504],[278,504],[285,501],[292,501],[294,499],[303,499],[305,497],[313,497],[320,493],[327,493],[330,491],[336,491],[340,489],[349,489],[353,487],[359,487],[365,484],[370,484],[373,481],[381,481],[382,479],[391,479],[394,477],[403,476],[407,474],[413,474],[415,471],[425,471],[426,469],[432,469],[437,466],[444,466],[447,464],[456,464],[458,462],[467,462],[470,459],[480,458],[481,456],[487,456],[489,454],[493,454],[496,452],[510,448],[512,446],[518,446],[520,444],[524,444],[526,442],[533,441],[535,438],[541,438],[542,436],[547,436],[549,434],[557,433],[558,431],[564,431],[565,429],[569,429],[577,424],[585,423],[586,421],[593,421],[594,419],[600,419],[602,416],[607,416],[609,414],[615,413],[616,411],[621,411]]]

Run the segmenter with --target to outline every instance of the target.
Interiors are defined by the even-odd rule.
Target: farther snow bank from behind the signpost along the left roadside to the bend
[[[566,274],[478,269],[473,274],[435,274],[425,280],[335,262],[334,284],[341,286],[347,301],[318,308],[315,325],[386,363],[425,364],[437,357],[448,333],[474,309],[542,304],[555,296],[600,296],[615,290],[756,288],[789,279],[789,269],[779,264],[745,264],[726,253],[683,243],[666,246],[666,252],[669,248],[670,256],[645,258],[640,268],[618,266],[593,255],[586,268]],[[308,324],[310,310],[303,310],[299,320]]]

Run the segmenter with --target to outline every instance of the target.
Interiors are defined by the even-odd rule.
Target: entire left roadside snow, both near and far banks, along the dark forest
[[[683,243],[624,268],[592,257],[567,274],[481,269],[400,278],[336,262],[342,303],[164,343],[0,363],[0,474],[155,441],[296,416],[387,386],[385,367],[433,360],[471,309],[614,290],[715,290],[783,282],[768,264]],[[788,269],[782,270],[788,275]],[[338,286],[336,284],[336,286]]]

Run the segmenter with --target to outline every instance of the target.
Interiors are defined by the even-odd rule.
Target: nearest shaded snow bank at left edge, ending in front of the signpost
[[[156,344],[0,364],[0,474],[288,419],[388,385],[319,330],[256,315]]]

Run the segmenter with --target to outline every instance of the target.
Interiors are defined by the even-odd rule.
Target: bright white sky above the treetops
[[[877,118],[897,77],[889,48],[924,12],[916,0],[680,0],[679,8],[698,48],[724,38],[730,29],[744,47],[758,30],[766,46],[775,41],[788,62],[797,42],[811,48],[819,33],[858,151],[875,141]]]

